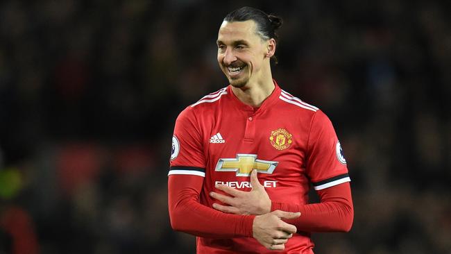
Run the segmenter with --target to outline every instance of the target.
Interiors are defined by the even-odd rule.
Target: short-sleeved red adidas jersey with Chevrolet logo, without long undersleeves
[[[169,176],[203,178],[198,202],[211,209],[213,203],[219,203],[209,196],[218,192],[216,183],[249,191],[253,169],[258,170],[260,183],[276,203],[305,205],[310,183],[320,190],[350,181],[330,120],[277,83],[259,108],[239,101],[229,85],[180,113]],[[313,246],[309,232],[298,232],[285,250],[277,253],[311,253]],[[252,237],[198,237],[197,250],[273,253]]]

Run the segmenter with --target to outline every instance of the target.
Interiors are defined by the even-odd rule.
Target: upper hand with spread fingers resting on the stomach
[[[230,214],[259,215],[271,212],[271,199],[269,199],[263,185],[259,183],[256,169],[250,173],[250,184],[252,185],[252,190],[250,192],[243,192],[226,185],[216,185],[216,189],[226,192],[226,194],[229,194],[230,196],[210,192],[212,198],[227,204],[219,205],[214,203],[213,208]]]

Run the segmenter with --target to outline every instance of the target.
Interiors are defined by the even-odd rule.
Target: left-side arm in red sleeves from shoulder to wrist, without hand
[[[168,179],[171,226],[200,237],[252,237],[255,216],[223,214],[200,203],[206,165],[200,130],[193,109],[183,110],[176,120],[172,139]],[[183,173],[179,174],[180,171]]]

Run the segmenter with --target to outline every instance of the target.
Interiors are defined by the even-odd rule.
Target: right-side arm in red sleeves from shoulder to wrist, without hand
[[[348,167],[332,122],[321,110],[312,118],[306,155],[306,173],[321,203],[300,207],[280,205],[303,212],[303,221],[296,221],[302,230],[349,231],[354,208]]]

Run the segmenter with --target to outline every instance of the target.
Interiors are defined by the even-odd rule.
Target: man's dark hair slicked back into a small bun
[[[267,15],[262,10],[245,6],[233,10],[224,18],[226,22],[245,22],[248,20],[253,20],[257,24],[256,32],[262,37],[262,40],[273,38],[276,43],[279,42],[277,30],[283,24],[282,18],[280,17]],[[277,58],[275,56],[272,56],[271,59],[277,64]]]

